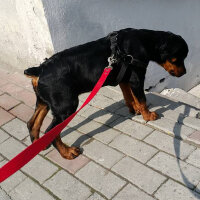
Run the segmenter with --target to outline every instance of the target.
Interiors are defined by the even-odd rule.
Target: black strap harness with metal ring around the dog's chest
[[[144,63],[138,59],[133,58],[130,54],[125,54],[122,52],[118,46],[118,31],[114,31],[110,33],[107,37],[110,40],[110,48],[111,48],[111,56],[108,58],[109,63],[115,64],[115,63],[121,63],[120,71],[117,75],[116,82],[120,83],[128,69],[128,67],[134,66],[134,67],[141,67],[146,69],[148,63]],[[133,80],[135,76],[135,72],[133,70],[133,67],[131,69],[131,76],[130,76],[130,82]]]

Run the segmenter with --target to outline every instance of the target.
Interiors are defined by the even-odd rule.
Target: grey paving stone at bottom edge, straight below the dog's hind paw
[[[46,181],[44,186],[62,200],[85,200],[91,195],[87,186],[63,170]]]

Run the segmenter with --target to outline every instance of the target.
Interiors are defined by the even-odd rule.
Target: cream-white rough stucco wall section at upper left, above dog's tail
[[[22,72],[52,54],[41,0],[0,0],[0,68]]]

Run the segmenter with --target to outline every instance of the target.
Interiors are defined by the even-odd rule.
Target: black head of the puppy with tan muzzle
[[[181,36],[167,32],[159,47],[159,54],[159,64],[169,74],[180,77],[186,73],[184,59],[188,54],[188,46]]]

